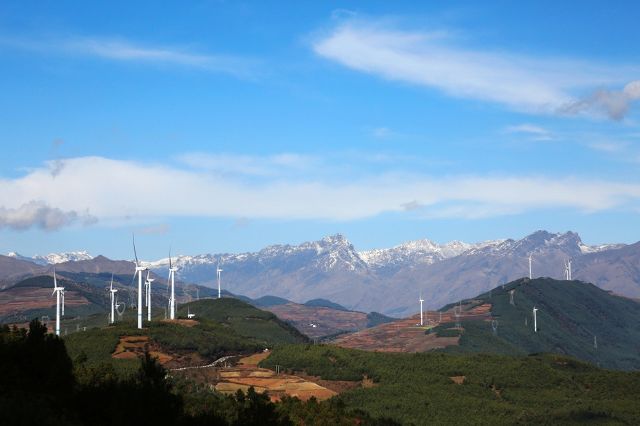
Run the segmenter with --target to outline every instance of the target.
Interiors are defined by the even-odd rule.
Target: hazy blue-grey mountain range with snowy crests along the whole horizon
[[[406,316],[418,311],[420,291],[425,308],[439,308],[526,276],[530,254],[534,277],[562,278],[564,260],[572,259],[574,279],[640,298],[640,243],[589,246],[574,232],[537,231],[521,240],[475,244],[417,240],[360,252],[337,234],[300,245],[268,246],[253,253],[177,256],[173,261],[181,281],[206,286],[216,285],[215,270],[220,262],[223,288],[254,299],[274,295],[302,303],[323,298],[351,310]],[[67,258],[80,259],[57,263],[56,268],[61,270],[107,272],[116,267],[109,263],[114,261],[103,256],[90,258],[86,252],[31,260],[14,254],[0,256],[0,280],[6,286],[11,275],[6,273],[10,267],[3,268],[7,259],[22,262],[15,268],[24,275],[32,273],[34,263],[42,263],[43,258],[49,265]],[[132,273],[130,262],[116,263],[119,273]],[[166,277],[168,263],[165,258],[147,265]]]

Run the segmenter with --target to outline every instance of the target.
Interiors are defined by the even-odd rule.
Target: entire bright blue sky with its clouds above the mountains
[[[635,2],[0,5],[0,252],[639,240]]]

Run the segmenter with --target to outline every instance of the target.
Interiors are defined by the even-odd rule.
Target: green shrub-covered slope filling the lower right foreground
[[[556,355],[384,354],[333,346],[276,348],[262,362],[325,379],[377,382],[339,398],[404,424],[639,424],[640,373]],[[465,376],[457,385],[451,376]]]

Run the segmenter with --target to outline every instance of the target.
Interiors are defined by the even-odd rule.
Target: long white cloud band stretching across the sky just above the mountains
[[[473,218],[545,208],[595,212],[636,208],[640,203],[639,183],[569,177],[382,173],[339,183],[331,176],[267,177],[247,183],[206,170],[103,157],[64,162],[55,177],[45,164],[20,178],[1,180],[4,211],[15,214],[21,206],[39,200],[63,212],[88,210],[106,221],[176,216],[356,220],[417,206],[431,216]],[[64,220],[57,223],[66,224]]]

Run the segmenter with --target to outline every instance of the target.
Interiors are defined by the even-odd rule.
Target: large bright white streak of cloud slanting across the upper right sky
[[[591,113],[593,103],[580,103],[576,92],[624,85],[637,77],[639,71],[637,66],[610,67],[580,60],[464,48],[442,31],[400,30],[362,19],[332,28],[315,41],[313,49],[318,55],[354,70],[435,88],[451,96],[545,114]],[[636,88],[634,82],[624,91],[635,93]],[[636,98],[628,98],[633,99]],[[619,106],[605,109],[613,118],[626,112]]]

